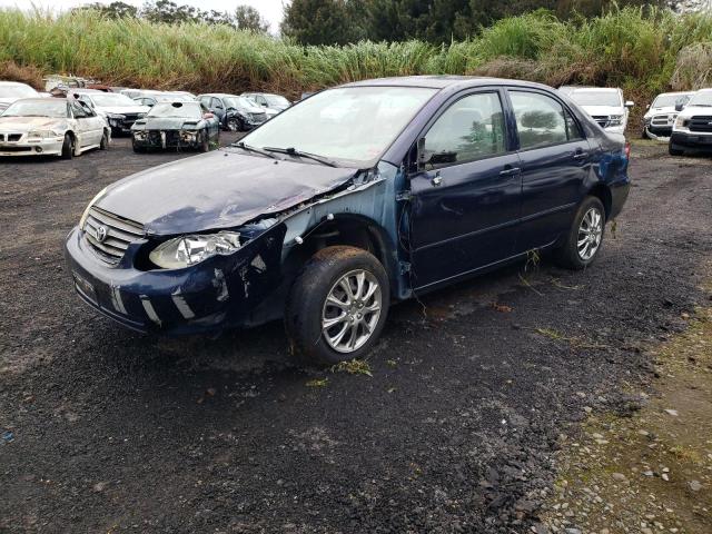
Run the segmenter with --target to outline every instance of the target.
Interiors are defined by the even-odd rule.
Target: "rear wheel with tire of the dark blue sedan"
[[[566,240],[555,251],[556,263],[567,269],[585,269],[599,257],[604,234],[603,204],[596,197],[586,197],[578,206]],[[582,243],[583,239],[587,241]]]

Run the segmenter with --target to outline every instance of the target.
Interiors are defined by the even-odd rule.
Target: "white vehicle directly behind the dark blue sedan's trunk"
[[[567,87],[564,91],[601,128],[613,134],[624,134],[627,127],[631,101],[623,99],[623,91],[612,87]]]

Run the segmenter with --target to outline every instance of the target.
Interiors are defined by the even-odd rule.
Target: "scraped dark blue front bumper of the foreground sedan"
[[[285,225],[275,225],[230,256],[176,270],[140,270],[134,259],[146,240],[131,243],[117,265],[95,253],[79,228],[65,258],[79,297],[125,327],[167,335],[219,332],[248,325],[279,286]]]

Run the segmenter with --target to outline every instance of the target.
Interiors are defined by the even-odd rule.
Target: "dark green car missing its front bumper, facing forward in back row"
[[[200,102],[156,103],[131,127],[135,152],[192,149],[207,152],[218,146],[220,122]]]

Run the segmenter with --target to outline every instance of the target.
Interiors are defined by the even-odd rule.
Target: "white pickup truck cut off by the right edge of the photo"
[[[700,89],[678,113],[670,136],[670,155],[686,149],[712,151],[712,89]]]

